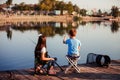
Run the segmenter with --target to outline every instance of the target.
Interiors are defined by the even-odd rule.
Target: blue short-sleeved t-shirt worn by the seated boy
[[[79,55],[78,46],[81,46],[81,42],[78,39],[69,38],[66,40],[65,43],[68,44],[68,55],[72,55],[72,54]]]

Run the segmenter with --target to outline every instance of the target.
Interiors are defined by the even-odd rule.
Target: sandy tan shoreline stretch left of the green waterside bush
[[[17,22],[17,21],[40,21],[40,22],[68,22],[73,21],[73,16],[70,15],[59,15],[59,16],[49,16],[49,15],[0,15],[1,21],[6,22]]]

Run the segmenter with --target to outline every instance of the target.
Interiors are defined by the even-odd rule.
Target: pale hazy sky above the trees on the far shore
[[[5,3],[7,0],[0,0],[0,4]],[[120,8],[120,0],[59,0],[64,2],[71,1],[73,4],[78,5],[80,8],[87,10],[108,11],[112,6]],[[36,4],[38,0],[13,0],[13,4],[19,4],[25,2],[26,4]]]

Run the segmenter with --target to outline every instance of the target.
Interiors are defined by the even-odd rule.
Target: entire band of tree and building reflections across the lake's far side
[[[96,24],[100,26],[104,23],[104,26],[110,25],[111,32],[117,32],[120,27],[120,23],[118,22],[101,22],[101,21],[92,21],[92,22],[16,22],[16,23],[6,23],[3,27],[0,27],[0,30],[6,30],[7,38],[12,39],[12,30],[18,30],[21,32],[27,30],[36,30],[38,34],[45,34],[47,37],[53,37],[56,34],[64,35],[71,28],[78,28],[79,25],[86,26],[86,24],[92,24],[93,27],[96,27]],[[109,23],[109,24],[108,24]]]

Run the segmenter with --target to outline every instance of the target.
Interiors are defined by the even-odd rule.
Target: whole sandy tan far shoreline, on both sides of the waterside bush
[[[117,21],[120,22],[120,17],[113,18],[112,16],[106,17],[80,17],[82,21]],[[0,15],[0,22],[14,22],[14,21],[40,21],[40,22],[72,22],[74,20],[73,15]]]

